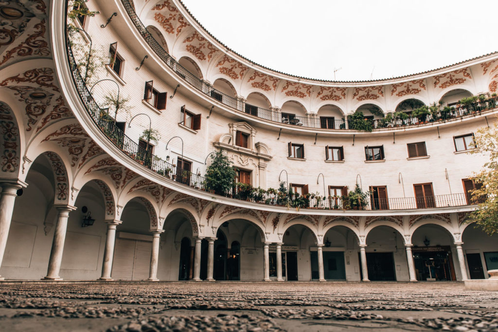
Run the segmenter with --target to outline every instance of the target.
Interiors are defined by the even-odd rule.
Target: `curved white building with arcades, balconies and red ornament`
[[[233,52],[179,0],[15,0],[0,15],[2,278],[417,281],[497,268],[496,236],[466,222],[469,177],[487,162],[469,154],[473,136],[497,121],[497,53],[326,82]],[[228,196],[204,177],[220,150],[242,183]]]

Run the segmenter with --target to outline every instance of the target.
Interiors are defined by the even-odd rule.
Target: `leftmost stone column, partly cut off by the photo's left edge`
[[[12,212],[14,211],[14,201],[17,197],[17,190],[21,188],[17,183],[0,183],[2,188],[0,193],[0,266],[7,245],[8,231],[12,220]],[[0,276],[0,280],[4,278]]]

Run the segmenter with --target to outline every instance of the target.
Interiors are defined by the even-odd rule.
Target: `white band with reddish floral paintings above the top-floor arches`
[[[139,5],[137,2],[140,1],[135,1],[135,5]],[[186,17],[189,15],[188,10],[183,8],[180,2],[161,0],[155,4],[145,3],[143,8],[140,19],[155,25],[163,33],[171,55],[176,59],[190,57],[198,64],[202,77],[208,81],[214,82],[216,79],[224,78],[234,86],[239,95],[247,97],[250,92],[259,92],[264,94],[272,105],[278,107],[289,99],[299,100],[307,105],[308,112],[316,112],[317,109],[314,107],[323,105],[324,102],[336,102],[344,106],[344,112],[348,112],[349,110],[344,109],[347,99],[353,104],[369,100],[388,104],[387,100],[411,96],[434,102],[436,100],[432,99],[449,87],[474,86],[474,76],[484,76],[486,82],[483,85],[485,84],[484,86],[492,92],[496,92],[498,87],[498,60],[482,63],[472,70],[467,67],[433,77],[373,86],[372,83],[368,83],[369,86],[358,86],[355,82],[337,83],[338,86],[330,86],[327,83],[326,86],[320,86],[303,78],[286,80],[286,75],[279,73],[272,75],[271,70],[262,67],[261,70],[257,70],[257,65],[254,66],[250,61],[245,61],[228,51],[225,45],[210,37],[194,18]],[[149,8],[151,10],[148,10]],[[476,93],[481,91],[484,89]],[[384,111],[392,110],[384,109]]]

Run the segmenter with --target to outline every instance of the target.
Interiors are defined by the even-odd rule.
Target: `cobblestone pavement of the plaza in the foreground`
[[[463,283],[0,283],[0,331],[498,331]]]

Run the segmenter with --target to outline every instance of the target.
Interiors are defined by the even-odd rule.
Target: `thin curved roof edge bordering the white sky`
[[[228,51],[228,53],[230,55],[232,55],[232,56],[235,55],[238,58],[240,58],[240,59],[248,62],[249,63],[248,65],[257,66],[259,68],[259,70],[269,71],[269,73],[266,73],[266,74],[270,74],[270,75],[275,75],[275,74],[284,75],[286,77],[280,77],[281,79],[284,79],[284,80],[288,80],[289,78],[292,78],[292,79],[297,79],[297,80],[307,80],[307,81],[311,81],[311,82],[315,82],[315,83],[385,83],[385,82],[388,82],[388,81],[396,81],[396,80],[401,80],[401,79],[406,79],[406,78],[416,78],[416,77],[421,76],[421,75],[427,75],[427,74],[436,73],[436,72],[439,72],[439,71],[444,71],[445,69],[450,69],[450,68],[456,67],[456,66],[461,67],[462,65],[467,65],[467,64],[469,64],[469,66],[470,66],[470,65],[472,65],[472,64],[470,64],[471,62],[476,62],[477,60],[482,60],[482,59],[485,59],[485,58],[488,58],[488,57],[496,56],[496,58],[498,58],[498,51],[495,51],[495,52],[484,54],[484,55],[481,55],[481,56],[478,56],[478,57],[474,57],[474,58],[471,58],[471,59],[462,60],[460,62],[451,64],[451,65],[447,65],[447,66],[443,66],[443,67],[439,67],[439,68],[427,70],[427,71],[424,71],[424,72],[419,72],[419,73],[409,74],[409,75],[396,76],[396,77],[393,77],[393,78],[386,78],[386,79],[364,80],[364,81],[332,81],[332,80],[312,79],[312,78],[307,78],[307,77],[303,77],[303,76],[297,76],[297,75],[292,75],[292,74],[280,72],[280,71],[277,71],[277,70],[274,70],[274,69],[262,66],[262,65],[260,65],[260,64],[258,64],[256,62],[254,62],[254,61],[246,58],[245,56],[237,53],[236,51],[234,51],[233,49],[231,49],[230,47],[228,47],[227,45],[225,45],[224,43],[222,43],[211,32],[209,32],[197,20],[197,18],[195,18],[195,16],[190,12],[190,10],[187,8],[187,6],[183,3],[182,0],[173,0],[173,2],[178,2],[179,4],[181,4],[181,8],[184,11],[186,11],[188,13],[188,16],[196,23],[196,25],[198,27],[200,27],[202,29],[202,32],[205,32],[210,38],[213,39],[213,41],[215,41],[220,46],[222,46],[226,51]],[[177,6],[177,8],[179,8],[179,6]],[[220,48],[220,49],[223,50],[223,48]],[[299,81],[299,82],[302,83],[301,81]]]

